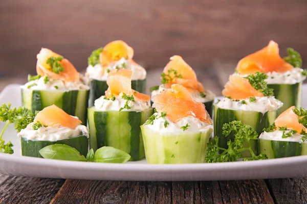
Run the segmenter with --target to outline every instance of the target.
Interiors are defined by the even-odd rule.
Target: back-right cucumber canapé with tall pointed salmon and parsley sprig
[[[248,75],[257,71],[268,75],[266,81],[275,97],[282,101],[280,113],[291,106],[301,106],[301,86],[306,79],[306,70],[301,69],[300,54],[288,48],[289,56],[279,56],[278,44],[270,41],[268,46],[240,60],[236,67],[237,74]]]

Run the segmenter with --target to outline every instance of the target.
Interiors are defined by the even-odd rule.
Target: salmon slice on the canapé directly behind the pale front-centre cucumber
[[[176,71],[176,74],[174,71]],[[168,80],[168,86],[172,84],[180,84],[191,90],[204,91],[203,85],[198,82],[196,74],[181,56],[175,55],[170,58],[170,61],[165,66],[163,73]]]

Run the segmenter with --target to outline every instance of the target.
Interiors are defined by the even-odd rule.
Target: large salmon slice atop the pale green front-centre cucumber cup
[[[182,85],[173,84],[171,89],[152,96],[153,108],[165,112],[168,119],[176,122],[181,118],[192,116],[212,124],[212,120],[202,103],[194,101],[191,93]]]

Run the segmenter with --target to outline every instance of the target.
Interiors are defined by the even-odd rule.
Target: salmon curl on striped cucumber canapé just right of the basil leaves
[[[131,88],[132,70],[120,69],[109,72],[106,84],[108,85],[105,91],[105,96],[111,98],[113,95],[118,96],[120,93],[125,93],[128,96],[134,95],[139,100],[149,101],[150,96],[139,93]]]

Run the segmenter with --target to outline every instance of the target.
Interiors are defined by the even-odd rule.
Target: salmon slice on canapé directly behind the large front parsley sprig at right
[[[235,100],[264,96],[260,91],[254,89],[247,79],[244,79],[240,75],[229,76],[229,81],[226,83],[222,94],[224,96],[230,96]]]

